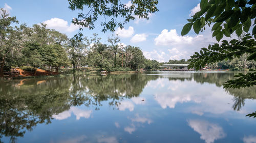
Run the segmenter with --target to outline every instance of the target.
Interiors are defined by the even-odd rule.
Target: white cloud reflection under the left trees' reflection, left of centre
[[[58,115],[53,115],[52,117],[56,120],[63,120],[71,117],[72,112],[76,116],[76,120],[79,120],[81,117],[86,119],[90,118],[92,110],[82,110],[77,107],[71,107],[68,111],[63,111]]]

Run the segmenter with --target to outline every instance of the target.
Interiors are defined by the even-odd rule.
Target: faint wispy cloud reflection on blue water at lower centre
[[[124,128],[124,131],[129,132],[130,134],[132,134],[134,131],[136,131],[137,130],[136,127],[139,127],[140,124],[147,123],[149,125],[153,122],[151,119],[148,119],[145,117],[140,117],[139,114],[136,114],[135,118],[130,118],[130,119],[132,121],[132,124],[130,126],[127,126]],[[135,126],[135,122],[137,123],[136,126]]]

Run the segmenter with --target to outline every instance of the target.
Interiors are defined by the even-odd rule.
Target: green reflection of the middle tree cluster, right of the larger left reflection
[[[139,96],[147,82],[157,78],[139,74],[122,74],[89,76],[80,81],[86,87],[84,89],[84,93],[87,95],[85,104],[87,106],[94,105],[96,109],[99,109],[101,101],[110,101],[109,105],[118,106],[123,99]]]

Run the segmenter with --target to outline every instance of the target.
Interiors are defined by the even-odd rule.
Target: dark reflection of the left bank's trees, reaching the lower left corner
[[[16,84],[16,87],[12,82],[0,83],[1,138],[10,136],[10,142],[15,142],[16,137],[23,137],[26,129],[32,130],[38,123],[49,124],[52,115],[69,109],[69,84],[65,79],[53,79],[38,85],[37,81],[30,79],[27,84]]]

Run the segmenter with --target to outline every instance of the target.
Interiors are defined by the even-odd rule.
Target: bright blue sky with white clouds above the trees
[[[129,1],[121,1],[129,5]],[[150,15],[150,20],[136,18],[124,25],[123,30],[116,29],[121,42],[125,45],[138,46],[147,59],[167,62],[169,59],[189,59],[195,51],[216,42],[211,37],[210,28],[199,35],[191,30],[188,35],[181,37],[181,30],[189,15],[200,10],[200,0],[167,1],[159,0],[159,12]],[[19,23],[32,26],[40,22],[48,24],[70,38],[78,31],[78,27],[71,24],[79,11],[71,11],[66,0],[2,0],[0,7],[7,9],[11,16],[16,16]],[[102,20],[101,17],[99,20]],[[91,37],[99,34],[102,43],[108,43],[111,32],[102,33],[99,22],[94,30],[84,28],[83,35]]]

